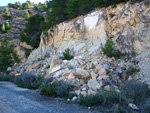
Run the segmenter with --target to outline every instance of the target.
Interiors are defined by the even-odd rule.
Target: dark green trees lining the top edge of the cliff
[[[116,6],[128,0],[53,0],[49,1],[51,11],[47,12],[45,23],[41,23],[42,31],[66,20],[84,15],[97,7]]]

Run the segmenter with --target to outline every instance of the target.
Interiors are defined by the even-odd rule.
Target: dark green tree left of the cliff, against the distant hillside
[[[44,21],[42,15],[36,14],[31,16],[26,23],[26,28],[20,33],[20,40],[31,45],[33,48],[38,48],[42,32],[40,23],[42,21]]]

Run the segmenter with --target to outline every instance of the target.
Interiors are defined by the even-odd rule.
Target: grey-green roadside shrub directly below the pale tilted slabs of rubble
[[[64,81],[54,81],[52,83],[43,82],[40,87],[40,94],[52,97],[67,97],[70,86]]]

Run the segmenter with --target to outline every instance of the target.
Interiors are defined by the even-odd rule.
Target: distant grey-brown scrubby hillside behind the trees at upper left
[[[26,20],[23,17],[24,12],[27,10],[30,14],[30,16],[35,15],[38,13],[38,11],[32,9],[26,9],[26,10],[18,10],[14,8],[8,8],[10,12],[10,18],[6,18],[3,16],[3,11],[6,7],[0,7],[0,24],[4,24],[6,21],[10,24],[10,30],[8,30],[6,33],[0,32],[0,38],[10,37],[10,38],[20,38],[20,32],[25,28]]]

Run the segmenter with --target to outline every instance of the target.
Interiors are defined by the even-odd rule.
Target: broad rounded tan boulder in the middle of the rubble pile
[[[73,73],[73,75],[79,79],[88,79],[90,77],[89,72],[81,68],[77,69],[76,72]]]

